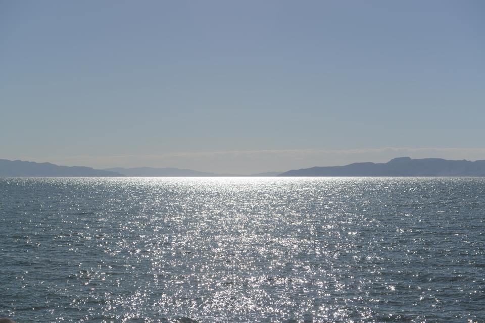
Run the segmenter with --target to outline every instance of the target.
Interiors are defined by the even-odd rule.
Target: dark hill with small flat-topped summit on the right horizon
[[[485,176],[485,160],[400,157],[383,164],[312,167],[288,171],[278,176]]]

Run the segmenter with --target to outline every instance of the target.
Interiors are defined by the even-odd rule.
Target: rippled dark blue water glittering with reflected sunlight
[[[0,179],[0,316],[483,322],[484,178]]]

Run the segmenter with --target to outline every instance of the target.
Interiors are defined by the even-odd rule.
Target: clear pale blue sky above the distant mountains
[[[0,0],[0,158],[485,159],[485,2]]]

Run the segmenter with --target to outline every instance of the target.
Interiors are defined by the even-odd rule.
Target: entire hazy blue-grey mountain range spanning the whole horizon
[[[27,176],[485,176],[485,160],[400,157],[382,164],[355,163],[346,166],[312,167],[284,173],[234,175],[151,167],[96,170],[90,167],[68,167],[51,163],[0,159],[0,177]]]

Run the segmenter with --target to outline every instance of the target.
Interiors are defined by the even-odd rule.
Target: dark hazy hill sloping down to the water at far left
[[[123,176],[120,173],[90,167],[58,166],[51,163],[0,159],[0,177],[27,176]]]

